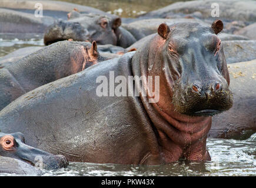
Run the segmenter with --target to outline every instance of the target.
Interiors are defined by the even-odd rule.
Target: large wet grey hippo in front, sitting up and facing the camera
[[[222,28],[161,24],[138,51],[25,93],[1,110],[0,129],[70,161],[210,160],[211,116],[232,106]]]

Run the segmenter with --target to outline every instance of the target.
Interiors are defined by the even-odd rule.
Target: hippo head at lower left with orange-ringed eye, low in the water
[[[37,161],[42,160],[45,169],[58,169],[68,166],[68,160],[62,155],[52,155],[25,145],[22,133],[5,134],[0,132],[0,156],[19,159],[33,166]]]

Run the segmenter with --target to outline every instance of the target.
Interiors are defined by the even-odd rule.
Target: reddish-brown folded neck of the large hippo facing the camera
[[[155,38],[158,38],[156,36]],[[174,162],[180,158],[188,160],[210,160],[210,155],[206,150],[207,133],[211,128],[211,117],[192,117],[182,113],[175,112],[174,106],[171,103],[173,80],[170,80],[168,70],[172,69],[167,66],[168,63],[162,63],[162,57],[159,55],[164,40],[157,43],[157,48],[150,48],[155,41],[155,38],[140,48],[132,58],[132,72],[134,76],[159,76],[160,89],[159,92],[164,92],[169,104],[162,106],[161,102],[149,103],[151,96],[142,96],[141,101],[151,119],[156,134],[158,144],[161,151],[161,156],[165,163]],[[162,42],[162,43],[161,43]],[[160,61],[160,62],[159,62]],[[158,70],[152,70],[158,69]],[[135,85],[138,89],[138,83],[135,80]],[[142,82],[144,80],[142,79]],[[147,83],[142,83],[142,86]],[[164,85],[164,86],[162,86]],[[160,94],[161,95],[161,94]],[[161,100],[161,96],[160,96]],[[165,112],[165,109],[169,109]]]

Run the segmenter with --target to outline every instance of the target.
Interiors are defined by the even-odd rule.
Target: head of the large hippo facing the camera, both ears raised
[[[217,36],[222,28],[220,20],[211,27],[197,23],[159,25],[158,35],[151,42],[154,48],[149,48],[149,75],[158,72],[164,78],[160,76],[161,109],[188,116],[213,116],[231,108],[230,77]]]

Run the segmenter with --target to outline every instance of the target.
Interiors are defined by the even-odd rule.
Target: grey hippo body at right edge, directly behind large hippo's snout
[[[212,117],[210,137],[247,139],[256,132],[256,59],[228,65],[234,103],[230,110]]]

